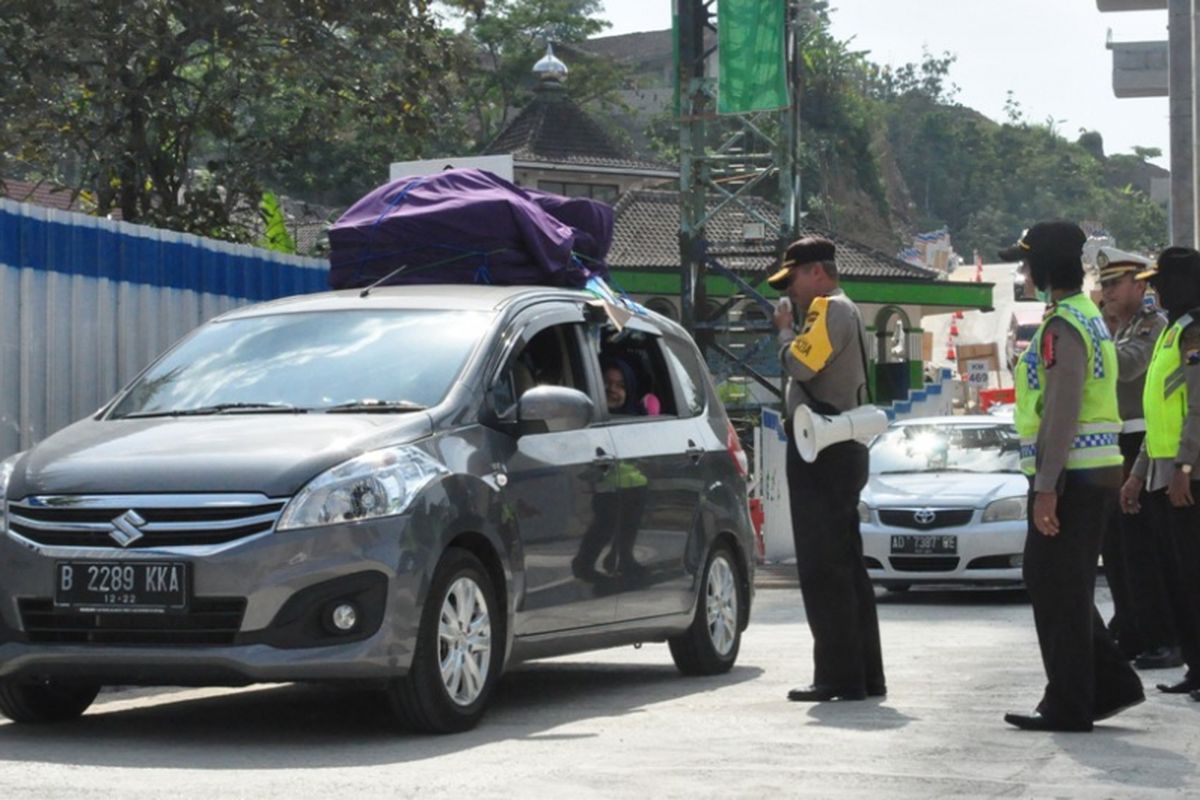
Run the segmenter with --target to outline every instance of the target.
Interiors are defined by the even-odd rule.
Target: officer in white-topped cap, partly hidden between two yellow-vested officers
[[[1117,349],[1117,410],[1121,435],[1117,444],[1129,475],[1146,435],[1141,393],[1146,368],[1166,318],[1145,302],[1146,282],[1138,279],[1150,260],[1115,247],[1100,247],[1096,254],[1105,314],[1117,320],[1114,342]],[[1175,645],[1175,626],[1159,560],[1157,527],[1147,515],[1115,515],[1104,530],[1104,575],[1112,593],[1112,620],[1109,631],[1121,652],[1134,658],[1139,669],[1162,669],[1182,663]]]

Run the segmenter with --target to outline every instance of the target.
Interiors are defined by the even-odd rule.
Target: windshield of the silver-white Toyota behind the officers
[[[898,425],[871,443],[871,473],[1016,473],[1020,453],[1010,425]]]

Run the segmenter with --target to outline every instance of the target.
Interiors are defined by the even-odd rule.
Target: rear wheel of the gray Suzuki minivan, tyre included
[[[701,595],[691,626],[667,639],[676,667],[685,675],[728,672],[742,646],[740,584],[737,561],[727,545],[718,545],[708,557]]]

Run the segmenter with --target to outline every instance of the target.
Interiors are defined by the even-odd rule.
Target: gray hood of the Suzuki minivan
[[[32,494],[260,492],[290,497],[359,453],[426,437],[427,414],[238,414],[83,420],[22,458],[10,499]]]

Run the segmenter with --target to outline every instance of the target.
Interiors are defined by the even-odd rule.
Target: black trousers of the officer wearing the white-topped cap
[[[1126,475],[1145,437],[1145,433],[1121,434]],[[1114,609],[1109,630],[1128,657],[1176,643],[1163,557],[1170,537],[1165,529],[1150,523],[1148,505],[1142,493],[1140,512],[1116,510],[1104,534],[1104,575],[1112,591]]]

